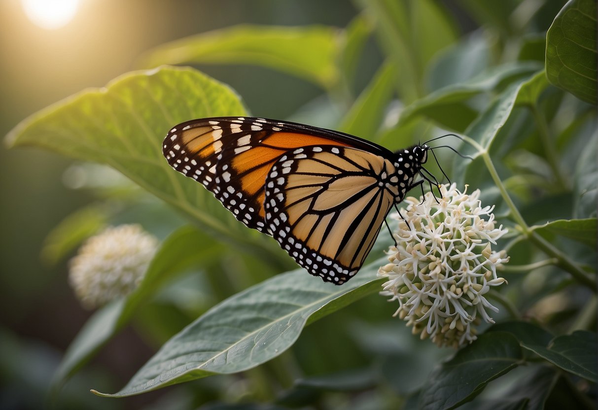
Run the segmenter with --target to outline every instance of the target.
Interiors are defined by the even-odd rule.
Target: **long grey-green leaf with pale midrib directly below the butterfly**
[[[213,374],[245,371],[281,354],[301,329],[380,290],[379,259],[343,286],[304,270],[277,275],[210,309],[166,342],[118,393],[123,397]]]

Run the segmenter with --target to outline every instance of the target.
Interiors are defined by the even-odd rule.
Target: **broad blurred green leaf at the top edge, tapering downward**
[[[401,99],[412,102],[421,97],[428,62],[456,39],[450,15],[431,0],[357,2],[373,20],[383,50],[399,69],[401,81],[396,86]]]

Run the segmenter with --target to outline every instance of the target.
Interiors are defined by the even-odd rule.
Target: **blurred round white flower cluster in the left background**
[[[140,225],[109,227],[89,238],[71,259],[69,282],[86,308],[128,295],[141,282],[158,240]]]

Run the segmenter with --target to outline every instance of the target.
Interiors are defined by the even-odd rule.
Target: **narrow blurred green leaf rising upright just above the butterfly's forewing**
[[[395,75],[395,65],[385,63],[347,112],[339,129],[365,139],[373,139],[382,123],[386,106],[392,99]]]

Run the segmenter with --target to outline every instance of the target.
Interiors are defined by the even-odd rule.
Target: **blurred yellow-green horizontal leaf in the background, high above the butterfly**
[[[160,45],[149,51],[144,66],[251,64],[330,88],[338,81],[336,59],[342,34],[327,26],[238,25]]]

